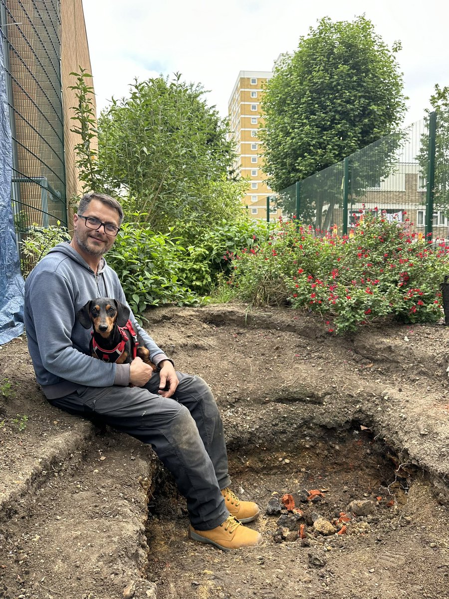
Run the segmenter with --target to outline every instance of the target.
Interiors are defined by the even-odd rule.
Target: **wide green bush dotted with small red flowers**
[[[449,247],[407,228],[366,213],[350,235],[316,237],[295,220],[280,221],[253,253],[236,256],[229,284],[238,283],[245,301],[318,311],[329,331],[355,331],[389,315],[435,322],[442,316],[439,285],[449,273]]]

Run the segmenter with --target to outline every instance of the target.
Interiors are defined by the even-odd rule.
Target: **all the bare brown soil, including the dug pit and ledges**
[[[442,323],[341,338],[281,308],[146,316],[178,370],[210,383],[233,489],[259,503],[250,526],[263,544],[189,540],[184,500],[150,447],[49,406],[19,338],[0,348],[1,598],[449,596]]]

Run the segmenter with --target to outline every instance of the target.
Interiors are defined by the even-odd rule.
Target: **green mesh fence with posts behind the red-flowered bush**
[[[287,187],[278,204],[318,235],[351,234],[369,211],[403,223],[409,234],[447,240],[448,133],[432,115]]]

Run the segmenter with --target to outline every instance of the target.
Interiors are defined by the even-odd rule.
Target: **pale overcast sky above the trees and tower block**
[[[435,83],[449,85],[447,0],[83,0],[98,110],[143,80],[181,72],[227,116],[239,71],[271,71],[310,26],[365,13],[392,47],[409,96],[404,124],[421,119]]]

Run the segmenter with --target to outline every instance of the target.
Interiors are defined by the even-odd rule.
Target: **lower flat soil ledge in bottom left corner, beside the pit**
[[[43,485],[3,523],[0,597],[156,597],[142,576],[159,462],[150,447],[118,432],[87,440],[84,450],[57,467],[48,462]]]

